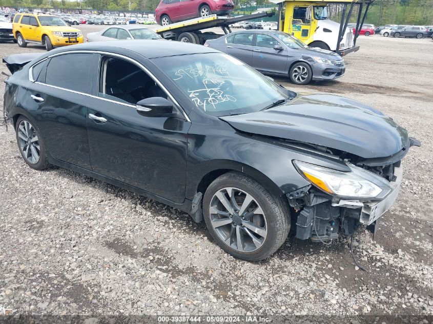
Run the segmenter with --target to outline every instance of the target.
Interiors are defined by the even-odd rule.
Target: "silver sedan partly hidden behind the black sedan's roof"
[[[162,39],[154,31],[138,25],[112,26],[99,32],[87,34],[87,41],[115,39]]]

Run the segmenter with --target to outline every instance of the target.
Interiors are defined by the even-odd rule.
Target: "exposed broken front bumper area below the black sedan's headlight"
[[[296,237],[301,240],[323,242],[335,239],[338,233],[350,236],[359,224],[372,225],[394,204],[400,191],[403,170],[394,167],[392,190],[382,200],[344,200],[326,195],[306,186],[286,195],[295,209]],[[376,228],[375,228],[376,230]]]

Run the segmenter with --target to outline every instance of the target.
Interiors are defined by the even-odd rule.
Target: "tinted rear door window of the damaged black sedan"
[[[93,54],[64,54],[51,58],[45,83],[82,93],[92,93]],[[74,67],[73,73],[67,73]]]

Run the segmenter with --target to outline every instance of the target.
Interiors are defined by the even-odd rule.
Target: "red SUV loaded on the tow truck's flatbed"
[[[156,21],[161,26],[214,13],[228,14],[235,6],[233,0],[161,0],[155,10]]]

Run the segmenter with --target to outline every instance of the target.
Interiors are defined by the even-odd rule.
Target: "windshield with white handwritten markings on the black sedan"
[[[198,109],[211,116],[257,112],[287,99],[278,85],[227,54],[191,54],[153,60]]]

